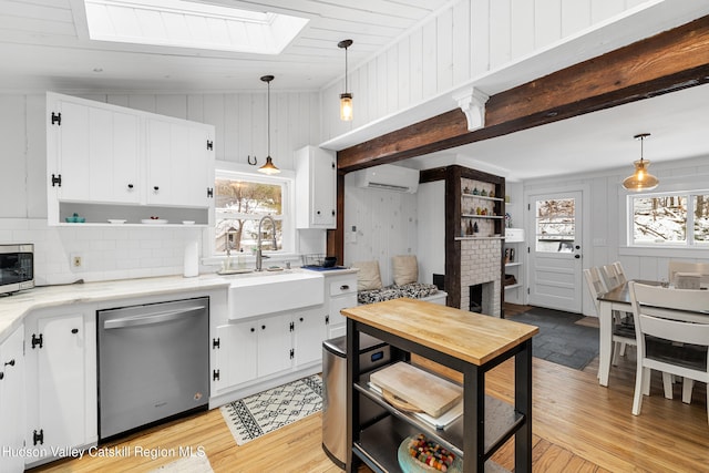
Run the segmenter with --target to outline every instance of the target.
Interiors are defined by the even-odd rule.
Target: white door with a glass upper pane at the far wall
[[[582,312],[582,192],[530,195],[532,306]]]

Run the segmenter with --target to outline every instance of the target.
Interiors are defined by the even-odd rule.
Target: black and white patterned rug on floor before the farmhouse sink
[[[220,408],[237,445],[322,409],[322,380],[314,374]]]

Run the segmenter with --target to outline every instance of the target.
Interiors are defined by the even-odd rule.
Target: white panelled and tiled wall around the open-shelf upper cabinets
[[[213,124],[217,160],[247,164],[256,155],[259,165],[265,162],[265,92],[81,96]],[[294,151],[318,142],[318,94],[271,92],[270,101],[271,156],[277,166],[294,169]],[[35,244],[38,284],[182,274],[185,245],[205,237],[199,229],[49,227],[45,96],[0,95],[0,243]],[[314,232],[298,235],[300,253],[323,251],[325,232]],[[83,267],[70,266],[72,254],[82,256]]]

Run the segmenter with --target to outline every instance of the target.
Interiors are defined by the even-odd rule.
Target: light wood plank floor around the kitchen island
[[[706,387],[697,385],[691,404],[662,397],[654,373],[643,413],[630,413],[635,384],[635,350],[610,371],[608,388],[596,379],[597,361],[576,371],[548,361],[533,361],[533,470],[535,472],[699,472],[709,469]],[[513,366],[506,362],[486,378],[491,395],[511,401]],[[237,446],[218,409],[150,429],[116,445],[147,449],[204,449],[220,472],[339,472],[325,455],[321,417],[311,415],[243,446]],[[112,446],[113,444],[109,445]],[[105,445],[104,445],[105,446]],[[512,443],[494,460],[513,469]],[[84,457],[64,460],[35,472],[144,472],[174,457]],[[362,469],[367,471],[367,469]]]

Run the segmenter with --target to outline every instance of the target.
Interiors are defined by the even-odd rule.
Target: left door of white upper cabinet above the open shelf
[[[48,94],[50,191],[61,200],[137,204],[140,119]]]

